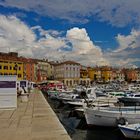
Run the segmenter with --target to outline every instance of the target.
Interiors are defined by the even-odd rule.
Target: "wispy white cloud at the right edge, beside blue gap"
[[[104,53],[111,65],[133,66],[140,62],[140,31],[132,29],[129,35],[117,35],[118,47]]]

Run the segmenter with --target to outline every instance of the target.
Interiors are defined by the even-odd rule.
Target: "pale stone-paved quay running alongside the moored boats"
[[[0,110],[2,140],[71,140],[56,114],[35,90],[28,102],[18,99],[15,110]]]

